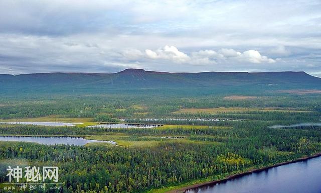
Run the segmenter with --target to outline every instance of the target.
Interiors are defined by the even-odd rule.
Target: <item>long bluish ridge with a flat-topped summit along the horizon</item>
[[[216,90],[217,92],[275,89],[320,89],[321,78],[305,72],[168,73],[126,69],[117,73],[0,74],[1,93],[109,92],[115,90]]]

